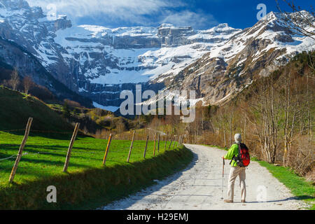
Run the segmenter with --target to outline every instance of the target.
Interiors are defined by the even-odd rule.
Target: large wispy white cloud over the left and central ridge
[[[30,6],[41,6],[45,13],[47,6],[55,4],[57,15],[66,14],[73,22],[80,18],[100,18],[107,24],[160,25],[169,22],[177,26],[190,25],[194,28],[208,27],[216,23],[212,15],[190,10],[177,12],[187,6],[182,0],[27,0]],[[105,22],[105,23],[106,23]]]

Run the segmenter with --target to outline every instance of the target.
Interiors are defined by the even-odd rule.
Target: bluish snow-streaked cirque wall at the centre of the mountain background
[[[84,25],[57,31],[55,41],[67,46],[63,57],[76,74],[70,82],[73,90],[98,104],[120,106],[122,90],[134,91],[137,83],[143,90],[164,88],[163,80],[148,82],[178,72],[239,31],[226,24],[208,31],[168,24],[117,29]]]

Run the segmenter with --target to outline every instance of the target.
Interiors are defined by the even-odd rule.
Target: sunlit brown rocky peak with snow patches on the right
[[[302,13],[315,25],[313,15]],[[294,34],[283,26],[283,16],[271,12],[253,27],[237,32],[224,45],[211,48],[202,58],[174,73],[165,90],[196,90],[203,104],[224,104],[297,53],[315,50],[315,36]],[[314,30],[308,24],[304,26]]]

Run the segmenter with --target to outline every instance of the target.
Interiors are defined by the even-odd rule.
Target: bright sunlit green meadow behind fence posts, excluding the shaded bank
[[[66,139],[66,137],[69,138]],[[0,132],[0,160],[8,158],[11,155],[16,155],[22,138],[22,135]],[[22,156],[14,179],[15,183],[25,183],[50,176],[62,175],[71,134],[64,136],[62,139],[54,138],[29,137],[23,151],[23,153],[28,154]],[[126,160],[130,149],[130,142],[115,139],[111,142],[106,167],[127,164]],[[146,158],[153,157],[153,144],[153,141],[148,142]],[[162,153],[164,152],[164,141],[160,144],[160,153]],[[130,162],[144,160],[145,145],[146,141],[134,142]],[[106,146],[107,140],[104,139],[78,137],[72,149],[68,169],[69,173],[102,167]],[[158,144],[156,148],[156,154],[158,155]],[[8,178],[14,161],[15,158],[0,161],[0,186],[8,184]]]

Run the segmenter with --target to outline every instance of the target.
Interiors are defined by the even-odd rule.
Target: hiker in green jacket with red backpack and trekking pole
[[[231,160],[231,169],[228,183],[228,199],[226,203],[233,203],[235,179],[239,176],[239,187],[241,188],[241,202],[245,203],[246,185],[245,185],[245,169],[249,164],[248,148],[241,143],[241,134],[235,134],[235,144],[232,144],[228,153],[223,156],[223,160]]]

